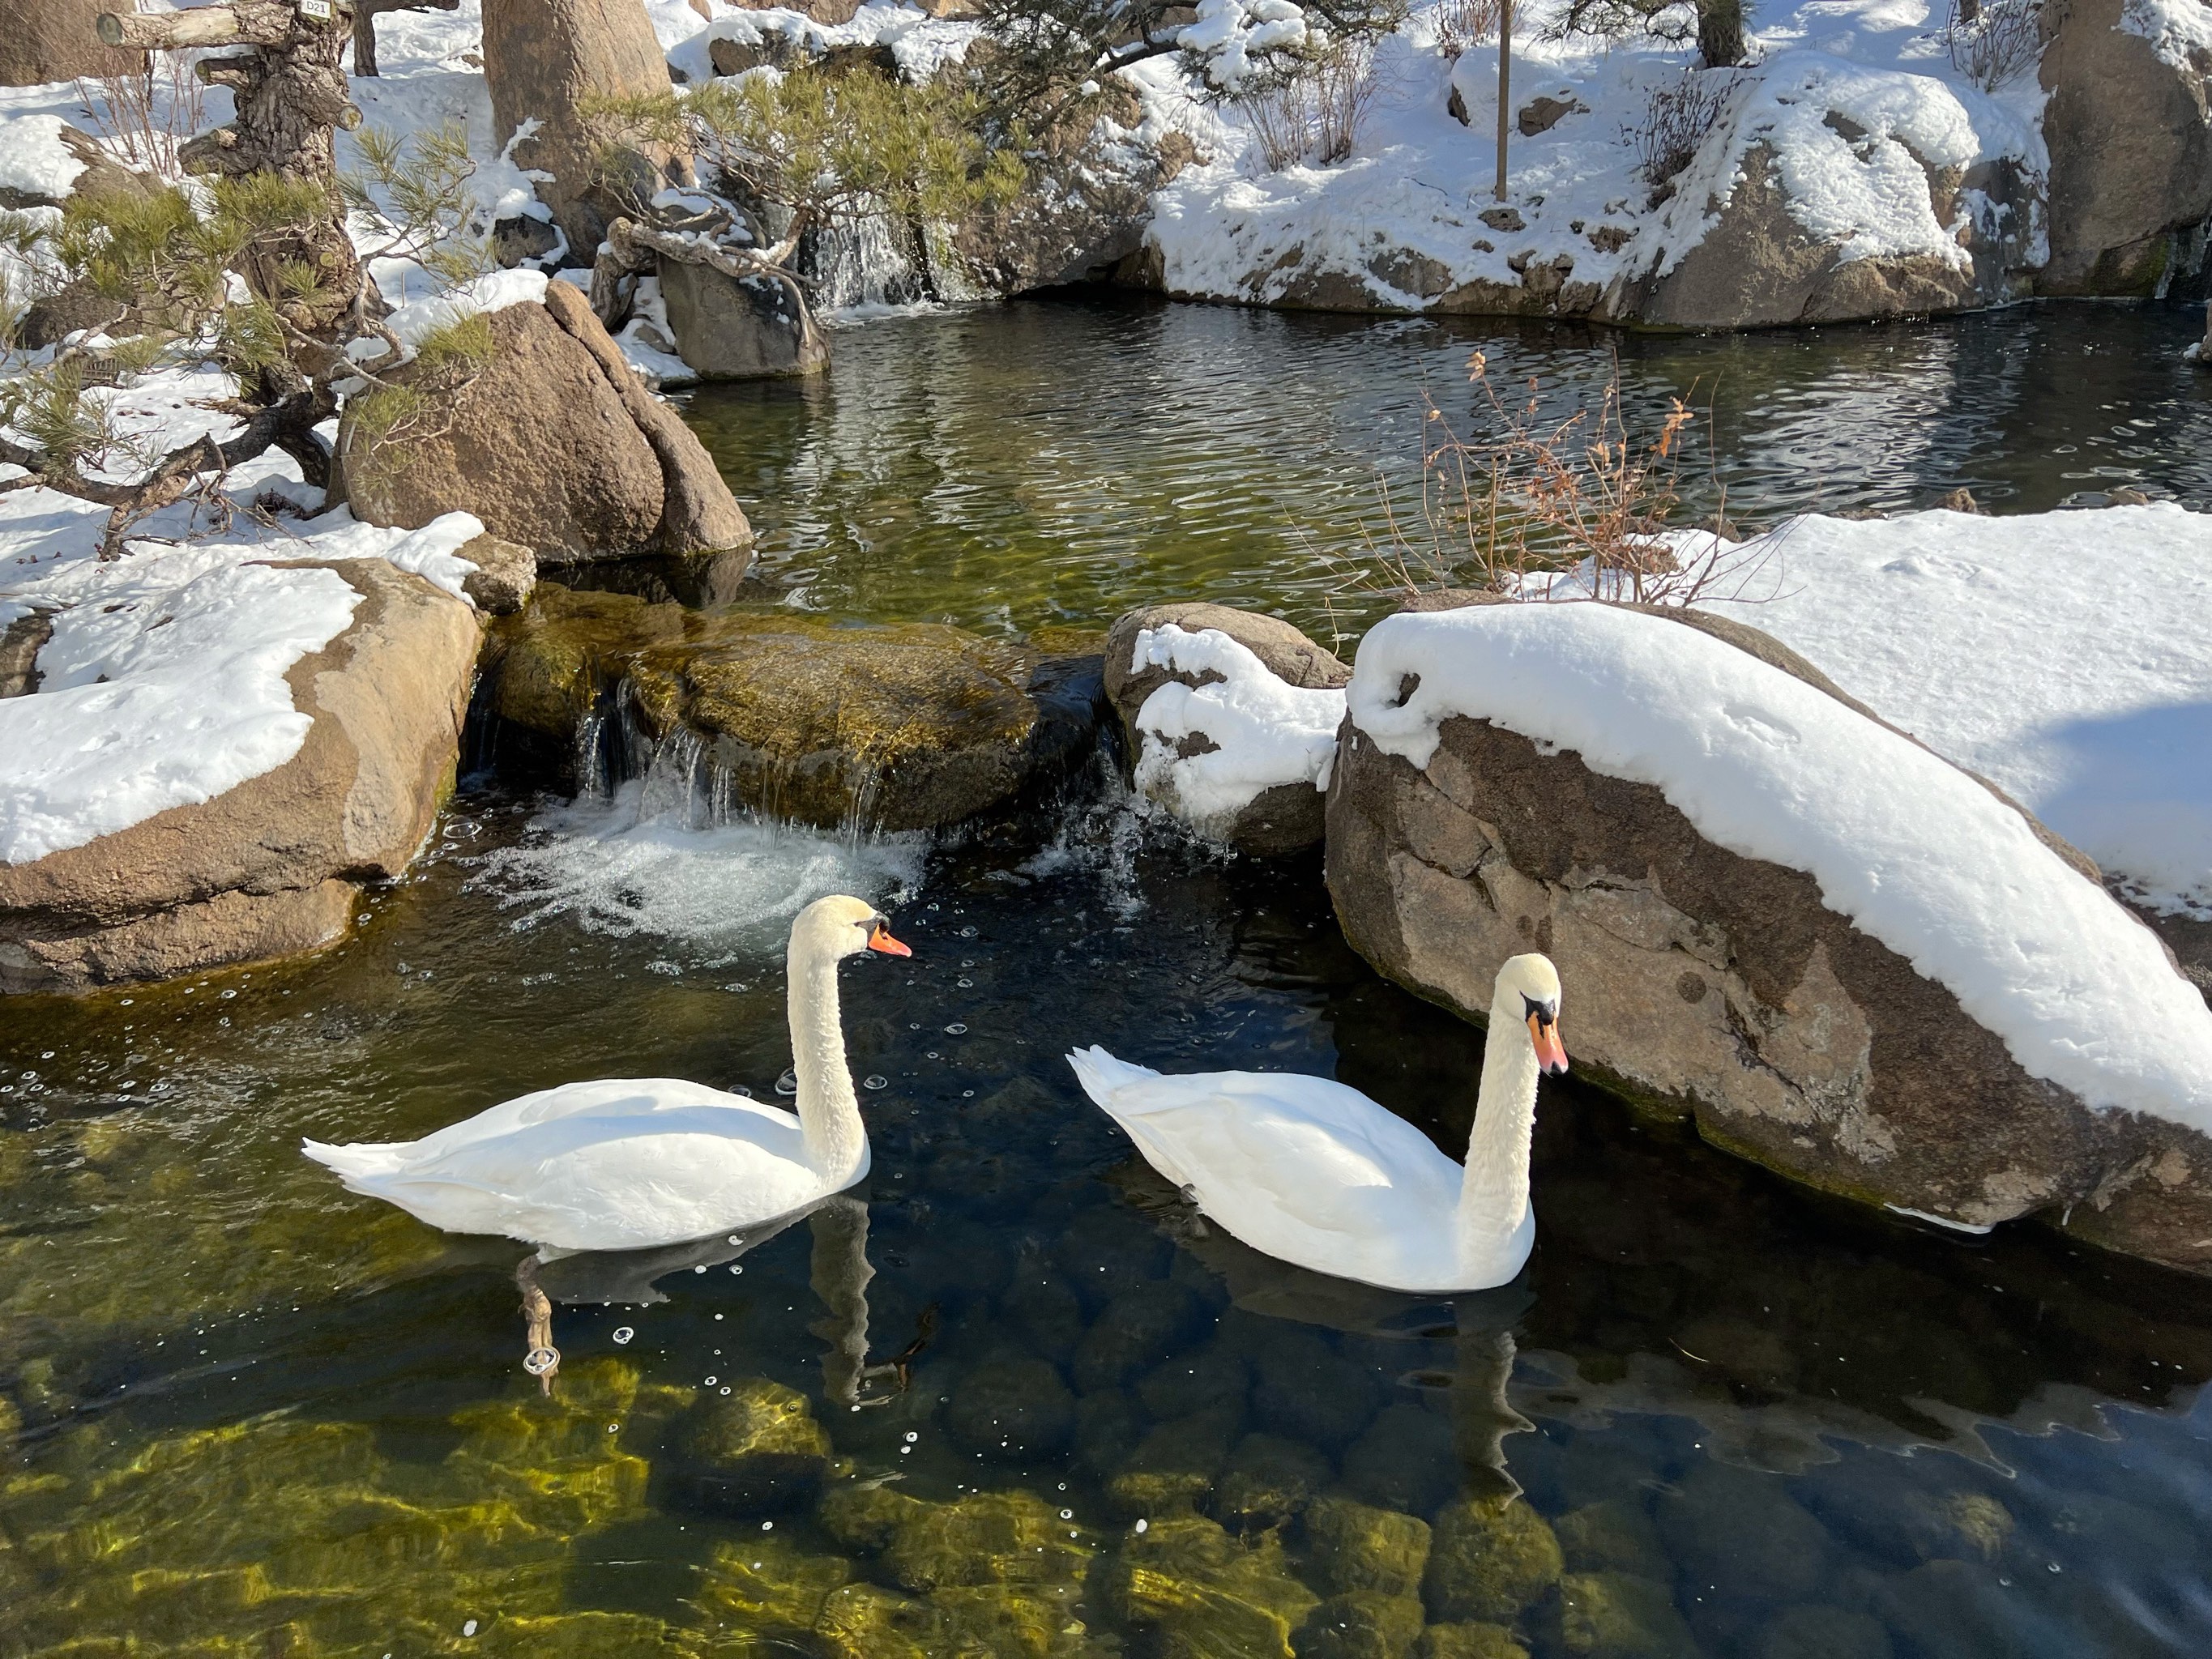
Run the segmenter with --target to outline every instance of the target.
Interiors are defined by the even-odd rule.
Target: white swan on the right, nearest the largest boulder
[[[1542,956],[1498,969],[1464,1170],[1329,1077],[1161,1077],[1104,1048],[1068,1064],[1155,1170],[1270,1256],[1416,1292],[1489,1290],[1528,1261],[1535,1079],[1566,1071],[1559,973]]]

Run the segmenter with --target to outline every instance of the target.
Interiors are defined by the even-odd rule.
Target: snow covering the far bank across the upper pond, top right
[[[1517,9],[1513,113],[1535,97],[1575,108],[1533,137],[1513,128],[1504,204],[1491,195],[1498,46],[1447,60],[1436,4],[1376,46],[1374,102],[1334,166],[1270,170],[1248,113],[1203,97],[1170,58],[1124,71],[1144,102],[1144,135],[1181,131],[1199,148],[1152,197],[1168,292],[1272,303],[1336,279],[1380,307],[1422,310],[1460,303],[1447,296],[1467,283],[1517,288],[1531,265],[1564,261],[1568,281],[1604,296],[1601,310],[1628,307],[1630,285],[1672,270],[1719,223],[1754,146],[1772,150],[1787,212],[1843,261],[1918,254],[1964,270],[1962,243],[1975,237],[2011,239],[2026,265],[2044,259],[2039,219],[2011,219],[1984,190],[1962,192],[1955,219],[1936,212],[1922,164],[2002,161],[2037,197],[2048,173],[2035,77],[1986,93],[1960,75],[1942,7],[1801,0],[1759,11],[1761,62],[1699,73],[1725,88],[1721,117],[1672,192],[1655,192],[1630,133],[1655,93],[1692,73],[1694,51],[1553,38],[1559,4]],[[1453,93],[1464,126],[1447,111]]]

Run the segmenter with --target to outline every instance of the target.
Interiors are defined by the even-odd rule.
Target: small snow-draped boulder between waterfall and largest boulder
[[[1321,841],[1352,670],[1279,617],[1155,604],[1106,635],[1137,792],[1243,852]]]

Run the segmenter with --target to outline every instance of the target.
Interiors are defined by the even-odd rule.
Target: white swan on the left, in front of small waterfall
[[[867,1175],[836,964],[869,949],[909,956],[858,898],[816,898],[792,922],[796,1117],[677,1077],[626,1077],[542,1088],[420,1141],[301,1150],[434,1228],[500,1232],[542,1256],[650,1250],[790,1214]]]

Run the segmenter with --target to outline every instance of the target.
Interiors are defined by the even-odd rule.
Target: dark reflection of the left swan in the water
[[[807,1276],[823,1303],[823,1316],[807,1325],[827,1343],[823,1349],[823,1396],[843,1407],[889,1405],[905,1391],[916,1354],[936,1332],[936,1307],[922,1310],[911,1343],[887,1360],[869,1363],[867,1285],[876,1270],[867,1259],[867,1199],[858,1192],[832,1192],[774,1221],[659,1250],[584,1250],[551,1261],[526,1256],[515,1267],[515,1281],[522,1285],[522,1312],[529,1321],[531,1356],[524,1360],[526,1369],[546,1387],[560,1369],[560,1352],[551,1343],[555,1303],[571,1307],[664,1303],[668,1292],[659,1287],[659,1281],[668,1274],[721,1267],[801,1221],[814,1234]],[[551,1360],[540,1356],[551,1356]]]

